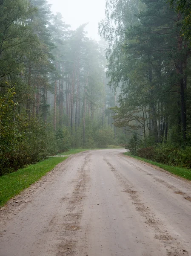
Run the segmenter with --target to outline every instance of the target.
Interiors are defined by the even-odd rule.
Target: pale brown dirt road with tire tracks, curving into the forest
[[[191,255],[191,183],[126,157],[86,151],[0,211],[0,256]]]

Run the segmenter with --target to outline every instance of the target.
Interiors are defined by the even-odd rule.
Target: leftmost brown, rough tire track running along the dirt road
[[[74,191],[68,199],[66,215],[63,217],[62,225],[56,225],[55,220],[52,226],[58,226],[62,233],[58,237],[57,256],[75,255],[77,232],[80,231],[80,221],[83,214],[83,204],[85,200],[86,185],[90,180],[88,175],[88,162],[91,154],[85,157],[82,167],[79,169],[78,178],[75,180]]]

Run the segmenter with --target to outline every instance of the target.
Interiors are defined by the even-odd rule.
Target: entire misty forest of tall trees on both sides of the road
[[[191,3],[106,0],[100,41],[46,0],[0,0],[0,175],[124,145],[191,167]]]

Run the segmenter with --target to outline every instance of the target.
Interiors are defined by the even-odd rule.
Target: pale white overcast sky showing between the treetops
[[[52,12],[60,12],[72,29],[89,22],[88,36],[99,40],[98,22],[105,17],[105,0],[48,0],[48,3]]]

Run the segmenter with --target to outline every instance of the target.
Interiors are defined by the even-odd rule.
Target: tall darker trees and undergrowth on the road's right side
[[[190,0],[106,0],[105,14],[109,85],[120,90],[110,109],[131,134],[125,147],[190,177]]]

